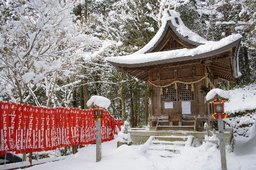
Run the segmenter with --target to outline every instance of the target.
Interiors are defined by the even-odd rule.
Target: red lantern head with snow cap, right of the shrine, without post
[[[226,91],[219,88],[214,88],[210,90],[205,97],[207,102],[212,103],[213,105],[213,118],[218,119],[218,116],[221,115],[221,118],[224,119],[228,115],[224,111],[224,103],[229,100],[229,95]]]

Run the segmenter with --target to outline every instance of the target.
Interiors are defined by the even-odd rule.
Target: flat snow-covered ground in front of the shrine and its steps
[[[203,143],[198,147],[185,146],[180,154],[164,158],[160,151],[150,152],[147,145],[122,145],[117,141],[102,143],[102,159],[96,162],[96,145],[80,148],[71,158],[35,165],[28,168],[49,169],[221,169],[220,150],[212,143]],[[162,151],[163,152],[163,151]],[[228,169],[256,168],[256,136],[236,141],[234,152],[226,152]]]

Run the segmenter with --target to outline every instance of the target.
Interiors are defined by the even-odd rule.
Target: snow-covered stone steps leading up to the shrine
[[[193,136],[152,136],[147,143],[151,143],[146,152],[147,155],[159,155],[173,157],[179,154],[185,146],[191,146]]]

